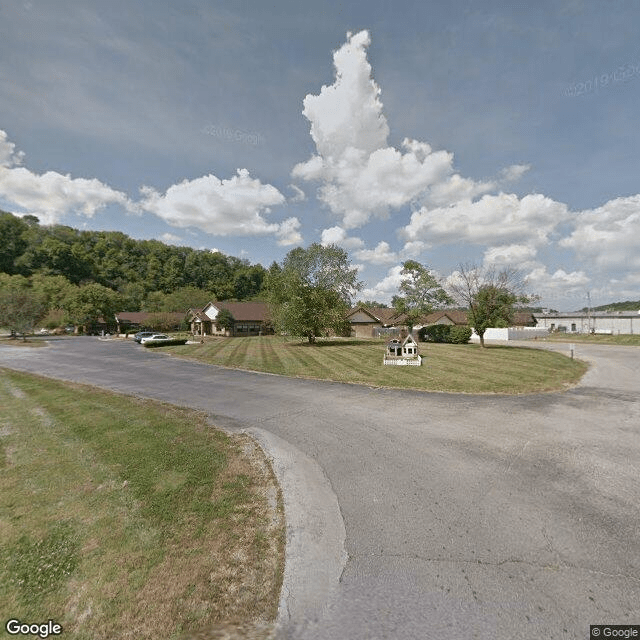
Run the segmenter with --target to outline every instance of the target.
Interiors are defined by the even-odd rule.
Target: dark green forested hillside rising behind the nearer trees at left
[[[119,231],[46,226],[35,216],[6,211],[0,211],[0,239],[0,282],[7,276],[45,278],[56,289],[65,282],[96,283],[121,294],[121,311],[187,308],[199,304],[198,291],[204,292],[203,304],[250,300],[261,294],[267,273],[261,264],[218,251],[135,240]],[[182,292],[179,301],[168,299],[177,292]]]

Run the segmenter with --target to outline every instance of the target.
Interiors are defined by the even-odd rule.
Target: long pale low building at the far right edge
[[[640,333],[640,310],[553,312],[534,315],[538,326],[549,331],[609,335]]]

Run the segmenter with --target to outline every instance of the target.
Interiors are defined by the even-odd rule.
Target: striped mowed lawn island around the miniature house
[[[331,339],[310,345],[280,336],[208,338],[163,351],[209,364],[375,387],[465,393],[533,393],[566,388],[587,370],[540,349],[420,343],[421,367],[384,366],[385,342]]]

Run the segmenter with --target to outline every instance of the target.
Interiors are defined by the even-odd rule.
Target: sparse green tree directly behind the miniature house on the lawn
[[[406,315],[410,331],[421,317],[452,302],[435,276],[419,262],[407,260],[400,273],[401,295],[394,296],[392,303],[398,313]]]

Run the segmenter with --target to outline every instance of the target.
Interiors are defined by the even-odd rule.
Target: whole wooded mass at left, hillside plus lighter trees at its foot
[[[43,226],[35,216],[4,211],[0,238],[5,323],[8,311],[20,308],[25,311],[16,313],[24,317],[40,310],[38,321],[46,325],[83,325],[112,311],[174,312],[211,300],[256,299],[266,276],[262,265],[220,252],[119,231]]]

